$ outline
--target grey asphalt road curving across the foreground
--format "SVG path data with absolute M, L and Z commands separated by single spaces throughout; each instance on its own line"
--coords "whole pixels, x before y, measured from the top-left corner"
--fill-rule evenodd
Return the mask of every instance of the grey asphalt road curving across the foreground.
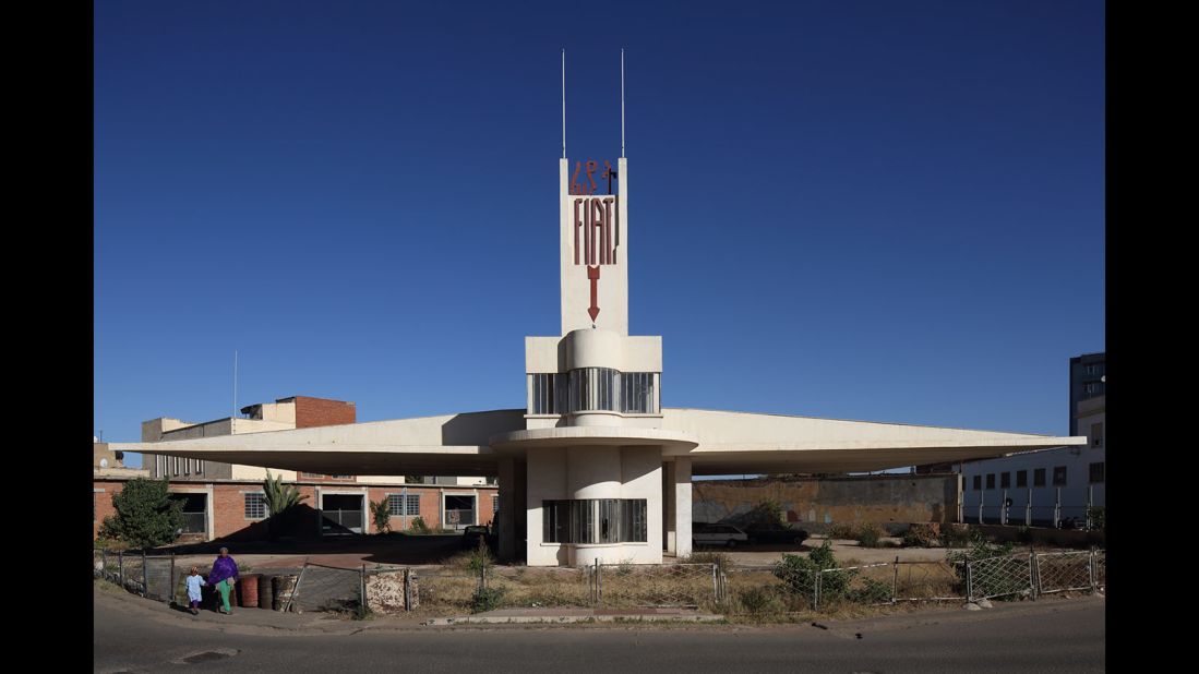
M 94 609 L 94 669 L 102 673 L 1104 670 L 1104 602 L 1091 598 L 1061 601 L 1050 610 L 1013 607 L 829 622 L 829 630 L 585 625 L 354 634 L 197 630 L 101 600 Z

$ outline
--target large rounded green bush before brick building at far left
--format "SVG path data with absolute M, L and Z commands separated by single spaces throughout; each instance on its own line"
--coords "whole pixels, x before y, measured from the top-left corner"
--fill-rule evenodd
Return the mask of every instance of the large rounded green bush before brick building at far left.
M 170 498 L 167 480 L 135 477 L 113 497 L 116 514 L 106 517 L 100 535 L 138 548 L 174 542 L 183 528 L 183 503 Z

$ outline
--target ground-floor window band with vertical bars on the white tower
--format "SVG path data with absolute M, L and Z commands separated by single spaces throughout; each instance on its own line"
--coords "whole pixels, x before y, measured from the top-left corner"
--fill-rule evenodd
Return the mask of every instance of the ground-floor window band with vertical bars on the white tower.
M 646 499 L 542 501 L 547 543 L 647 542 Z

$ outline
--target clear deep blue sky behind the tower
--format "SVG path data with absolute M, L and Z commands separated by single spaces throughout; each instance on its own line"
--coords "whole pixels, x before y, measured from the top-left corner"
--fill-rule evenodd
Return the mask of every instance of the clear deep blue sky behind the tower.
M 1105 348 L 1103 12 L 97 2 L 96 433 L 228 416 L 235 349 L 239 405 L 522 407 L 565 47 L 572 161 L 620 154 L 626 50 L 664 405 L 1065 434 Z

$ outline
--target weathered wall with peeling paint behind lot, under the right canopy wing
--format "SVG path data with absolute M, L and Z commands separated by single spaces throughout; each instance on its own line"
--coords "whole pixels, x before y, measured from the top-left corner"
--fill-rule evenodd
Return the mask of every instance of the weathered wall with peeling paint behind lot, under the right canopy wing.
M 957 475 L 873 475 L 863 477 L 765 477 L 697 480 L 692 485 L 695 522 L 743 524 L 763 501 L 776 501 L 789 523 L 857 524 L 873 522 L 954 522 Z

